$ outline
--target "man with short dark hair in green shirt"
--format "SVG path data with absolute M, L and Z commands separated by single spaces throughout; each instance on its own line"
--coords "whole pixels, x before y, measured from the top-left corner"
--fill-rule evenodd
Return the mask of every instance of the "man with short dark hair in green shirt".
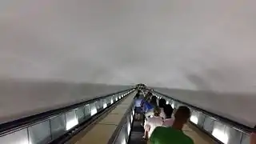
M 183 134 L 182 128 L 190 118 L 190 109 L 180 106 L 174 115 L 171 127 L 157 127 L 150 136 L 150 144 L 194 144 L 193 140 Z

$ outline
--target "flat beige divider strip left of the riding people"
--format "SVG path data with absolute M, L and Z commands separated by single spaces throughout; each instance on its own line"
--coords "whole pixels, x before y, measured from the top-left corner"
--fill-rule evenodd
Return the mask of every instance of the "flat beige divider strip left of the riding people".
M 118 124 L 122 121 L 126 111 L 130 108 L 133 100 L 134 93 L 131 93 L 126 99 L 118 103 L 113 110 L 104 115 L 104 118 L 98 118 L 98 121 L 95 121 L 91 126 L 82 130 L 81 133 L 69 143 L 108 143 L 114 131 L 117 130 Z

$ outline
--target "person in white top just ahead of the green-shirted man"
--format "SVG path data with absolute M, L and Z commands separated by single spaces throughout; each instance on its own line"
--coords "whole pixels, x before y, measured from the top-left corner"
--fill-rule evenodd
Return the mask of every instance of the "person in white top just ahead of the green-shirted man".
M 148 118 L 144 124 L 144 139 L 150 138 L 150 135 L 154 131 L 154 129 L 158 126 L 162 126 L 162 117 L 160 117 L 161 109 L 159 107 L 154 107 L 154 116 Z

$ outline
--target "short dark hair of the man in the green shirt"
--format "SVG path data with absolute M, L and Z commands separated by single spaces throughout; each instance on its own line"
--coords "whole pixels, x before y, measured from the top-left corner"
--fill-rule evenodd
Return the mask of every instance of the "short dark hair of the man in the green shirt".
M 174 116 L 175 120 L 185 123 L 190 118 L 190 115 L 190 108 L 187 106 L 179 106 Z

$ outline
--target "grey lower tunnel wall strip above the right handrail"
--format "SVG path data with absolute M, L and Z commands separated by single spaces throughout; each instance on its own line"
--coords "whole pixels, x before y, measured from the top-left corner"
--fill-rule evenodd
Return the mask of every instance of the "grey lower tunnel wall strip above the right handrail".
M 155 90 L 246 126 L 253 127 L 256 124 L 256 113 L 254 112 L 256 110 L 256 98 L 253 94 L 221 94 L 202 90 L 166 88 L 155 88 Z

